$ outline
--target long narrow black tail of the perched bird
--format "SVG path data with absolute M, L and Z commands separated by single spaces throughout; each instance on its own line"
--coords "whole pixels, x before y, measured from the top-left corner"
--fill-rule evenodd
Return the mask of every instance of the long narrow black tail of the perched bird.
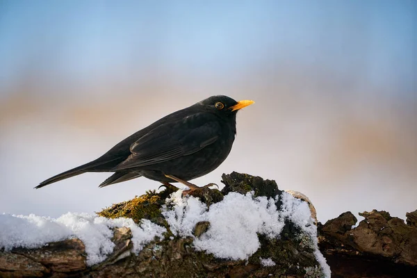
M 70 177 L 78 176 L 79 174 L 83 174 L 85 172 L 108 172 L 108 170 L 117 165 L 117 163 L 120 163 L 120 161 L 122 161 L 121 158 L 114 158 L 106 161 L 102 161 L 100 158 L 98 158 L 95 161 L 85 163 L 84 165 L 75 167 L 71 170 L 57 174 L 54 177 L 42 181 L 41 183 L 39 183 L 39 186 L 36 186 L 35 188 L 42 188 L 44 186 L 47 186 L 48 184 L 55 183 L 57 181 L 62 181 L 63 179 L 68 179 Z

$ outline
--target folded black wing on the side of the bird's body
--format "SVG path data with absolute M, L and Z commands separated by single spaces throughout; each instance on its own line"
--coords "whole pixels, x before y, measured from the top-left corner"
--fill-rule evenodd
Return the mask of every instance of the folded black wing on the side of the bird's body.
M 157 126 L 131 145 L 131 155 L 113 170 L 152 165 L 198 152 L 220 136 L 213 115 L 198 113 Z

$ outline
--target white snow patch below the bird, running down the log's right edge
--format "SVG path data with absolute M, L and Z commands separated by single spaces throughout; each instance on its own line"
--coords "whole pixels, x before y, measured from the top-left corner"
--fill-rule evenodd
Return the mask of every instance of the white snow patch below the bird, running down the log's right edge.
M 176 236 L 193 236 L 193 228 L 200 221 L 210 222 L 206 233 L 194 239 L 194 246 L 221 259 L 245 260 L 261 247 L 258 234 L 269 238 L 279 237 L 284 220 L 290 219 L 311 238 L 314 255 L 325 277 L 330 268 L 318 250 L 317 227 L 311 218 L 309 205 L 288 193 L 281 195 L 278 211 L 276 199 L 254 197 L 253 193 L 229 193 L 222 202 L 206 204 L 199 199 L 181 197 L 181 190 L 173 193 L 163 207 L 163 215 Z

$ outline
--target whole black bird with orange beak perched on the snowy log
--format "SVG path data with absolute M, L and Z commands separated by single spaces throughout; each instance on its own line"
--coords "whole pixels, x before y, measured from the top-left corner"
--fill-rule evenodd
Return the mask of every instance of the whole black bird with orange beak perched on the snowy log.
M 188 181 L 215 170 L 227 158 L 236 136 L 236 113 L 253 103 L 222 95 L 208 97 L 134 133 L 95 161 L 35 188 L 85 172 L 115 172 L 99 187 L 146 177 L 165 186 L 178 181 L 195 190 L 199 187 Z

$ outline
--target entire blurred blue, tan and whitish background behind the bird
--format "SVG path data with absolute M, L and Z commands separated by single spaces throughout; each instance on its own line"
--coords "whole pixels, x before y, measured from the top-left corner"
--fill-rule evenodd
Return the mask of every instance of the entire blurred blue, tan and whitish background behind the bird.
M 211 95 L 238 113 L 217 170 L 274 179 L 325 222 L 417 208 L 417 2 L 0 1 L 0 213 L 100 211 L 160 186 L 34 190 Z

